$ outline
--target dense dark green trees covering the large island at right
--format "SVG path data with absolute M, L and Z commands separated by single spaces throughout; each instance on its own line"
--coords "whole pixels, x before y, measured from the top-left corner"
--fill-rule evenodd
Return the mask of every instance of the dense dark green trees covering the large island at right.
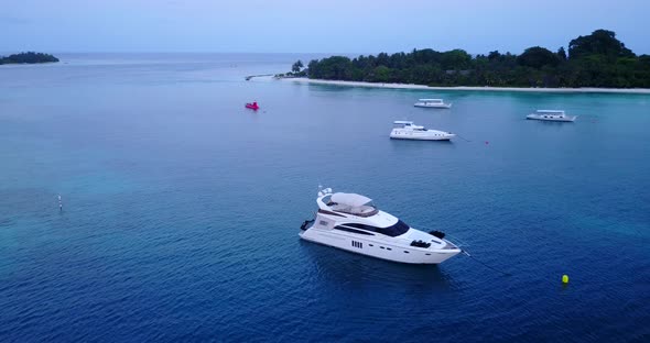
M 296 62 L 294 70 L 299 63 L 302 65 Z M 498 51 L 472 56 L 463 49 L 425 48 L 315 59 L 306 74 L 314 79 L 429 86 L 650 88 L 650 55 L 637 56 L 614 32 L 597 30 L 572 40 L 568 56 L 564 47 L 553 53 L 533 46 L 519 56 Z

